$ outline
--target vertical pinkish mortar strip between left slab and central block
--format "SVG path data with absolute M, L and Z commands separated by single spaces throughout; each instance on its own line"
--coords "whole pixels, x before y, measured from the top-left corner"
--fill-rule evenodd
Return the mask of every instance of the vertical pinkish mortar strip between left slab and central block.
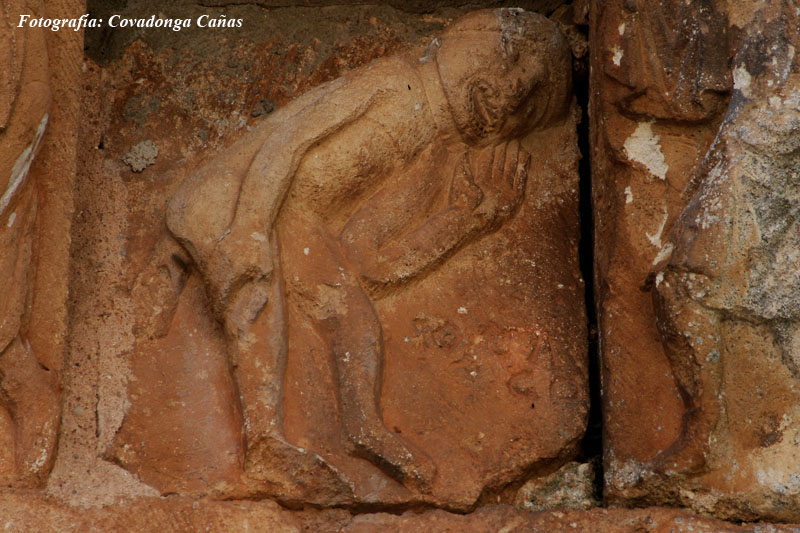
M 119 424 L 130 374 L 132 317 L 120 272 L 129 257 L 123 230 L 129 227 L 131 196 L 115 172 L 121 151 L 108 156 L 103 132 L 108 94 L 100 69 L 85 63 L 78 131 L 78 172 L 70 250 L 69 346 L 64 361 L 63 407 L 58 456 L 47 493 L 70 505 L 109 505 L 157 492 L 99 456 Z M 130 146 L 130 143 L 126 143 Z M 109 159 L 114 163 L 109 164 Z M 130 173 L 130 170 L 127 170 Z

